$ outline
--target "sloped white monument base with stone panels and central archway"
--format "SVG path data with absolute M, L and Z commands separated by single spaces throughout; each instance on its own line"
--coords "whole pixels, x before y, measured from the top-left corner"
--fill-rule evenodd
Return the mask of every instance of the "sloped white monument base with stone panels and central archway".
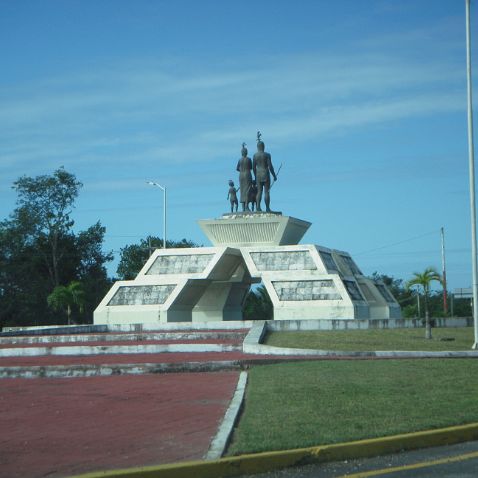
M 386 286 L 349 254 L 294 245 L 157 249 L 136 279 L 113 285 L 94 323 L 242 320 L 247 292 L 261 282 L 275 320 L 401 317 Z

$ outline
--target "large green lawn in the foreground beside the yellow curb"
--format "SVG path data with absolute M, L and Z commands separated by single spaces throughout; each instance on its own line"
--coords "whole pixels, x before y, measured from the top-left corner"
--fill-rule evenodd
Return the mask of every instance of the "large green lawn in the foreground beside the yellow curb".
M 256 366 L 228 454 L 478 422 L 478 360 L 336 360 Z

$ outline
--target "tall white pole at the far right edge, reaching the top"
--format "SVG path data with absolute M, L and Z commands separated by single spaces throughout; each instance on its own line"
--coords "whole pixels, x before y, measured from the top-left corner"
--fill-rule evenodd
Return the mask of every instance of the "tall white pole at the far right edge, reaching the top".
M 473 146 L 473 110 L 471 92 L 471 42 L 470 42 L 470 0 L 466 6 L 466 84 L 468 110 L 468 166 L 470 179 L 470 212 L 471 212 L 471 263 L 473 268 L 473 322 L 475 326 L 475 343 L 478 348 L 478 273 L 476 263 L 476 201 L 475 201 L 475 157 Z

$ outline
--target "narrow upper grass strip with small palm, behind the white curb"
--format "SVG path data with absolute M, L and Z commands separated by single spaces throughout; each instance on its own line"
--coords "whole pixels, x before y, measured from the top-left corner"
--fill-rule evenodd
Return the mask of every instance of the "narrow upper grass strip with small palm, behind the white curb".
M 425 329 L 322 330 L 305 332 L 270 332 L 265 343 L 276 347 L 321 350 L 470 350 L 473 327 L 432 329 L 432 339 L 425 339 Z M 454 339 L 454 340 L 442 340 Z

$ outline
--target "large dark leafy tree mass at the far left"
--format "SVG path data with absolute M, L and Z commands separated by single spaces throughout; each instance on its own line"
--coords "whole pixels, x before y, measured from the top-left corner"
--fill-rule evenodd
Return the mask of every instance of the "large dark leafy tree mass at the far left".
M 81 281 L 83 320 L 110 282 L 102 251 L 105 228 L 98 222 L 75 234 L 70 217 L 81 183 L 63 168 L 52 176 L 23 176 L 14 188 L 16 209 L 0 221 L 0 326 L 54 324 L 47 297 L 58 285 Z

